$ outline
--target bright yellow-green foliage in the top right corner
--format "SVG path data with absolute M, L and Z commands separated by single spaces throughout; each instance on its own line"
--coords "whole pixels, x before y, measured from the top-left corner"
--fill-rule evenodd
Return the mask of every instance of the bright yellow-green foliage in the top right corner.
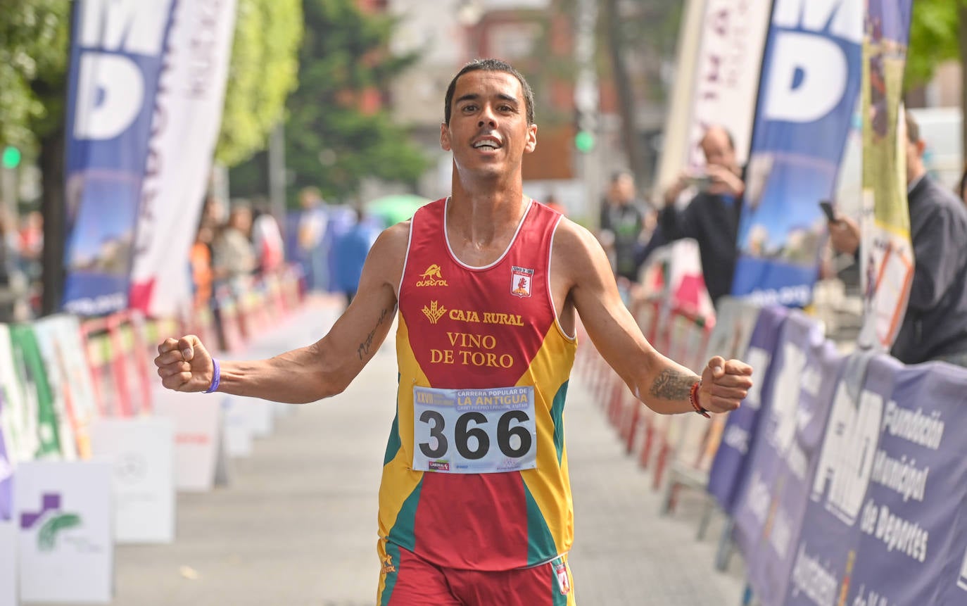
M 907 89 L 925 84 L 938 65 L 960 56 L 958 9 L 963 6 L 967 6 L 967 0 L 916 0 L 913 3 L 904 75 Z

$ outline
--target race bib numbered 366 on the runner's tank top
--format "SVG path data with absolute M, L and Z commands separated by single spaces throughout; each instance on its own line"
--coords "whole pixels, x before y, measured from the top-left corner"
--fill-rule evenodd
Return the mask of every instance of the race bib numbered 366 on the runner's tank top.
M 537 467 L 534 388 L 413 388 L 413 469 L 496 474 Z

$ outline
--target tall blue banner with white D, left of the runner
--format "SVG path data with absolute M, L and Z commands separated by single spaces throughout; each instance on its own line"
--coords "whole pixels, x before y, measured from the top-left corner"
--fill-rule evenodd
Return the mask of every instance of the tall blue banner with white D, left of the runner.
M 128 306 L 132 246 L 176 0 L 77 0 L 67 116 L 63 308 Z

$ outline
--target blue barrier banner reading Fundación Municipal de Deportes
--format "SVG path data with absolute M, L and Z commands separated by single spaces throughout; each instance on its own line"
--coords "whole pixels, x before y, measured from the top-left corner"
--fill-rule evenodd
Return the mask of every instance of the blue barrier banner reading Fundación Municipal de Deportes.
M 967 603 L 967 371 L 877 356 L 862 391 L 847 383 L 836 390 L 784 603 Z

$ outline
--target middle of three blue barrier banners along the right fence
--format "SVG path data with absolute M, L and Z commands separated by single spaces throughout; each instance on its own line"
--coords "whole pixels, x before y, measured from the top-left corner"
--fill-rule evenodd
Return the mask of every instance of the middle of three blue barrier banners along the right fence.
M 786 594 L 842 361 L 819 324 L 790 314 L 770 370 L 772 405 L 763 409 L 759 445 L 735 508 L 734 537 L 748 582 L 766 605 L 781 604 Z

